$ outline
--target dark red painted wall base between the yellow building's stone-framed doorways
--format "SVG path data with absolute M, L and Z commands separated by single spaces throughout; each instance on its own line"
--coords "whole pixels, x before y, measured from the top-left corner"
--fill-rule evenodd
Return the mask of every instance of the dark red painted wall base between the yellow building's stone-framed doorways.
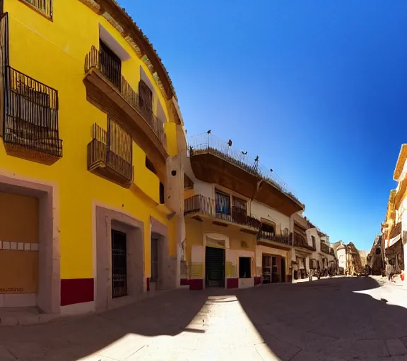
M 61 279 L 61 306 L 93 301 L 93 279 Z

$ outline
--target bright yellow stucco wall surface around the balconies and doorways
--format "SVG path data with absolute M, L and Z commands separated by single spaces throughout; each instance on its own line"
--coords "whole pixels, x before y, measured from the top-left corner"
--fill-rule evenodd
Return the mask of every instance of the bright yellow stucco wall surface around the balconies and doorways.
M 18 0 L 5 0 L 8 12 L 10 66 L 29 75 L 59 94 L 59 137 L 63 157 L 52 166 L 45 166 L 8 156 L 0 139 L 0 171 L 13 171 L 37 181 L 53 181 L 59 186 L 61 279 L 91 278 L 92 264 L 92 201 L 98 200 L 123 209 L 144 222 L 146 276 L 151 272 L 150 221 L 153 216 L 169 226 L 170 255 L 175 255 L 175 219 L 167 221 L 152 202 L 136 192 L 106 181 L 87 170 L 86 146 L 91 140 L 90 128 L 98 123 L 106 129 L 107 116 L 86 100 L 83 85 L 84 60 L 90 48 L 99 48 L 99 23 L 131 54 L 122 63 L 122 74 L 134 90 L 138 89 L 139 67 L 155 80 L 143 61 L 110 23 L 78 0 L 53 1 L 53 21 L 33 11 Z M 154 109 L 161 102 L 169 119 L 165 100 L 155 88 Z M 156 110 L 155 110 L 156 111 Z M 167 150 L 177 153 L 175 124 L 165 124 Z M 134 144 L 134 182 L 158 202 L 158 178 L 145 166 L 143 150 Z

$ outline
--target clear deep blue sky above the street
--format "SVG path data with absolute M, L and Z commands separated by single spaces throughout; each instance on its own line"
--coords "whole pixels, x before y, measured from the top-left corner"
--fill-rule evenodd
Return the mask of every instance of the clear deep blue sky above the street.
M 370 250 L 407 142 L 407 1 L 121 0 L 189 135 L 259 155 L 331 242 Z

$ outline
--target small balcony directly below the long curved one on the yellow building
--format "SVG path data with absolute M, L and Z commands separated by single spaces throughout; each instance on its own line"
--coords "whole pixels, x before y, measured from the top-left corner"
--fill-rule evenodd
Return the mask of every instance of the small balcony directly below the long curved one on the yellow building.
M 107 129 L 93 125 L 93 139 L 88 144 L 88 171 L 129 188 L 134 173 L 131 136 L 111 119 Z

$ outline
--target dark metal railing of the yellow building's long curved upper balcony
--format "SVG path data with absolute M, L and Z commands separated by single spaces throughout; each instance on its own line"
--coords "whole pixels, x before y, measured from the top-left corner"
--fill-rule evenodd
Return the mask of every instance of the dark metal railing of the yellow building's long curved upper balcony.
M 112 59 L 106 52 L 98 51 L 98 49 L 93 46 L 90 52 L 85 56 L 85 73 L 88 73 L 91 68 L 97 68 L 105 78 L 117 88 L 124 100 L 141 114 L 155 135 L 160 139 L 160 142 L 166 147 L 167 137 L 164 132 L 164 122 L 153 114 L 151 108 L 142 105 L 149 104 L 148 100 L 141 99 L 141 95 L 129 85 L 129 82 L 127 82 L 119 71 L 117 61 Z

